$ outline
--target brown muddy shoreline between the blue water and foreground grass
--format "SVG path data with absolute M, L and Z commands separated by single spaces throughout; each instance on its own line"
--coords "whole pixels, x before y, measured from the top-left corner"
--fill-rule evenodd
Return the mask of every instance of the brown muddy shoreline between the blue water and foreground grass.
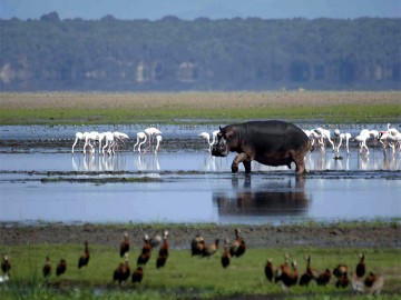
M 235 226 L 218 224 L 65 224 L 14 222 L 0 223 L 0 244 L 90 244 L 117 247 L 127 231 L 134 248 L 139 249 L 143 237 L 169 231 L 173 249 L 189 249 L 190 240 L 200 233 L 206 240 L 232 239 Z M 332 224 L 239 226 L 251 248 L 283 248 L 297 246 L 401 248 L 401 224 L 393 222 L 356 222 Z

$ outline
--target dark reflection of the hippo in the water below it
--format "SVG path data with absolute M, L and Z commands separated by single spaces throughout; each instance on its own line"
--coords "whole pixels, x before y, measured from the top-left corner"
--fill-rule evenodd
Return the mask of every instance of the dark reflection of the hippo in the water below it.
M 233 178 L 232 186 L 232 193 L 213 193 L 219 216 L 304 216 L 309 208 L 304 178 L 268 179 L 256 187 L 251 177 L 243 184 Z

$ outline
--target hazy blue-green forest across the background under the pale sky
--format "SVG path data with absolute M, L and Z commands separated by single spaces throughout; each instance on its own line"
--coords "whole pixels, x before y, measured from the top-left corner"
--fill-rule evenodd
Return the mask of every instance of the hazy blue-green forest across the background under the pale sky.
M 0 89 L 401 89 L 401 20 L 0 20 Z

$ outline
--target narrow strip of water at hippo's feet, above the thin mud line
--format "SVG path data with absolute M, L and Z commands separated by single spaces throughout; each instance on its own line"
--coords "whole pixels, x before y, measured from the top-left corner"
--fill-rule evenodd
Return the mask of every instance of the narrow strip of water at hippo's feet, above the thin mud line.
M 160 152 L 155 156 L 124 152 L 117 156 L 84 156 L 66 152 L 18 152 L 0 153 L 0 170 L 7 171 L 203 171 L 228 172 L 235 154 L 226 158 L 212 157 L 205 151 Z M 401 170 L 400 156 L 383 156 L 379 149 L 370 156 L 360 156 L 356 150 L 350 156 L 342 153 L 334 159 L 332 151 L 314 151 L 306 156 L 305 166 L 311 171 L 398 171 Z M 294 169 L 295 166 L 293 166 Z M 239 166 L 239 170 L 244 170 Z M 252 162 L 253 171 L 287 171 L 287 167 L 268 167 Z

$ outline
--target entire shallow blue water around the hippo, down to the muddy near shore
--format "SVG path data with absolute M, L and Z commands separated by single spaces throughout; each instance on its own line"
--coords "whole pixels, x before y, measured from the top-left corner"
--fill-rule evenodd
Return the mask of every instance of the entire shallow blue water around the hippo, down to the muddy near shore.
M 39 127 L 32 133 L 28 128 L 1 127 L 0 132 L 26 140 L 32 134 L 68 137 L 75 130 L 60 128 Z M 203 130 L 211 131 L 168 127 L 164 137 L 196 138 Z M 242 166 L 239 173 L 232 174 L 234 154 L 214 158 L 206 143 L 204 150 L 162 150 L 158 156 L 129 151 L 114 157 L 71 156 L 66 149 L 49 148 L 1 151 L 0 221 L 276 224 L 400 218 L 400 154 L 383 156 L 379 149 L 369 156 L 356 149 L 341 154 L 342 160 L 334 160 L 332 151 L 307 154 L 311 173 L 296 179 L 286 167 L 258 163 L 253 163 L 251 178 Z M 156 180 L 124 182 L 144 177 Z M 97 180 L 105 178 L 121 180 Z

